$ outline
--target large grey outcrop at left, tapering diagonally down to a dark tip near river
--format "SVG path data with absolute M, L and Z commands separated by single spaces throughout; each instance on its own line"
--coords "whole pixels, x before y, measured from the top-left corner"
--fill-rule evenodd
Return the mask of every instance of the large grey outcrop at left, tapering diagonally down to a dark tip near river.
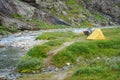
M 29 2 L 26 0 L 26 2 Z M 34 5 L 36 3 L 33 3 Z M 37 5 L 37 4 L 36 4 Z M 0 1 L 0 24 L 7 27 L 14 27 L 19 30 L 30 30 L 36 28 L 32 23 L 27 22 L 32 19 L 43 20 L 51 24 L 68 25 L 69 23 L 54 18 L 47 12 L 44 12 L 34 6 L 19 0 L 1 0 Z

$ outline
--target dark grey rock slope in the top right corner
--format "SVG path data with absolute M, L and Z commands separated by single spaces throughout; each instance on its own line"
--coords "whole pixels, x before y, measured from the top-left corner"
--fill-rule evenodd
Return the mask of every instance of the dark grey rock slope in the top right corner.
M 120 0 L 83 0 L 91 13 L 99 12 L 120 24 Z

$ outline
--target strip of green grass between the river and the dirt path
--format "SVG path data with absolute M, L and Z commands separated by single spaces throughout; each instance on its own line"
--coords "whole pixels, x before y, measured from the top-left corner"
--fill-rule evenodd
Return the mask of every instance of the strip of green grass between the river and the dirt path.
M 62 45 L 64 42 L 71 41 L 75 37 L 79 37 L 79 36 L 81 35 L 75 34 L 73 32 L 43 33 L 42 35 L 38 36 L 36 39 L 45 39 L 49 41 L 42 45 L 36 45 L 33 48 L 31 48 L 24 56 L 25 58 L 23 57 L 17 64 L 18 71 L 19 72 L 32 72 L 33 70 L 41 69 L 41 67 L 38 67 L 38 65 L 44 65 L 42 61 L 44 58 L 47 57 L 46 53 L 49 50 L 55 49 L 56 47 Z M 35 60 L 36 61 L 38 60 L 40 64 L 39 62 L 34 63 Z

